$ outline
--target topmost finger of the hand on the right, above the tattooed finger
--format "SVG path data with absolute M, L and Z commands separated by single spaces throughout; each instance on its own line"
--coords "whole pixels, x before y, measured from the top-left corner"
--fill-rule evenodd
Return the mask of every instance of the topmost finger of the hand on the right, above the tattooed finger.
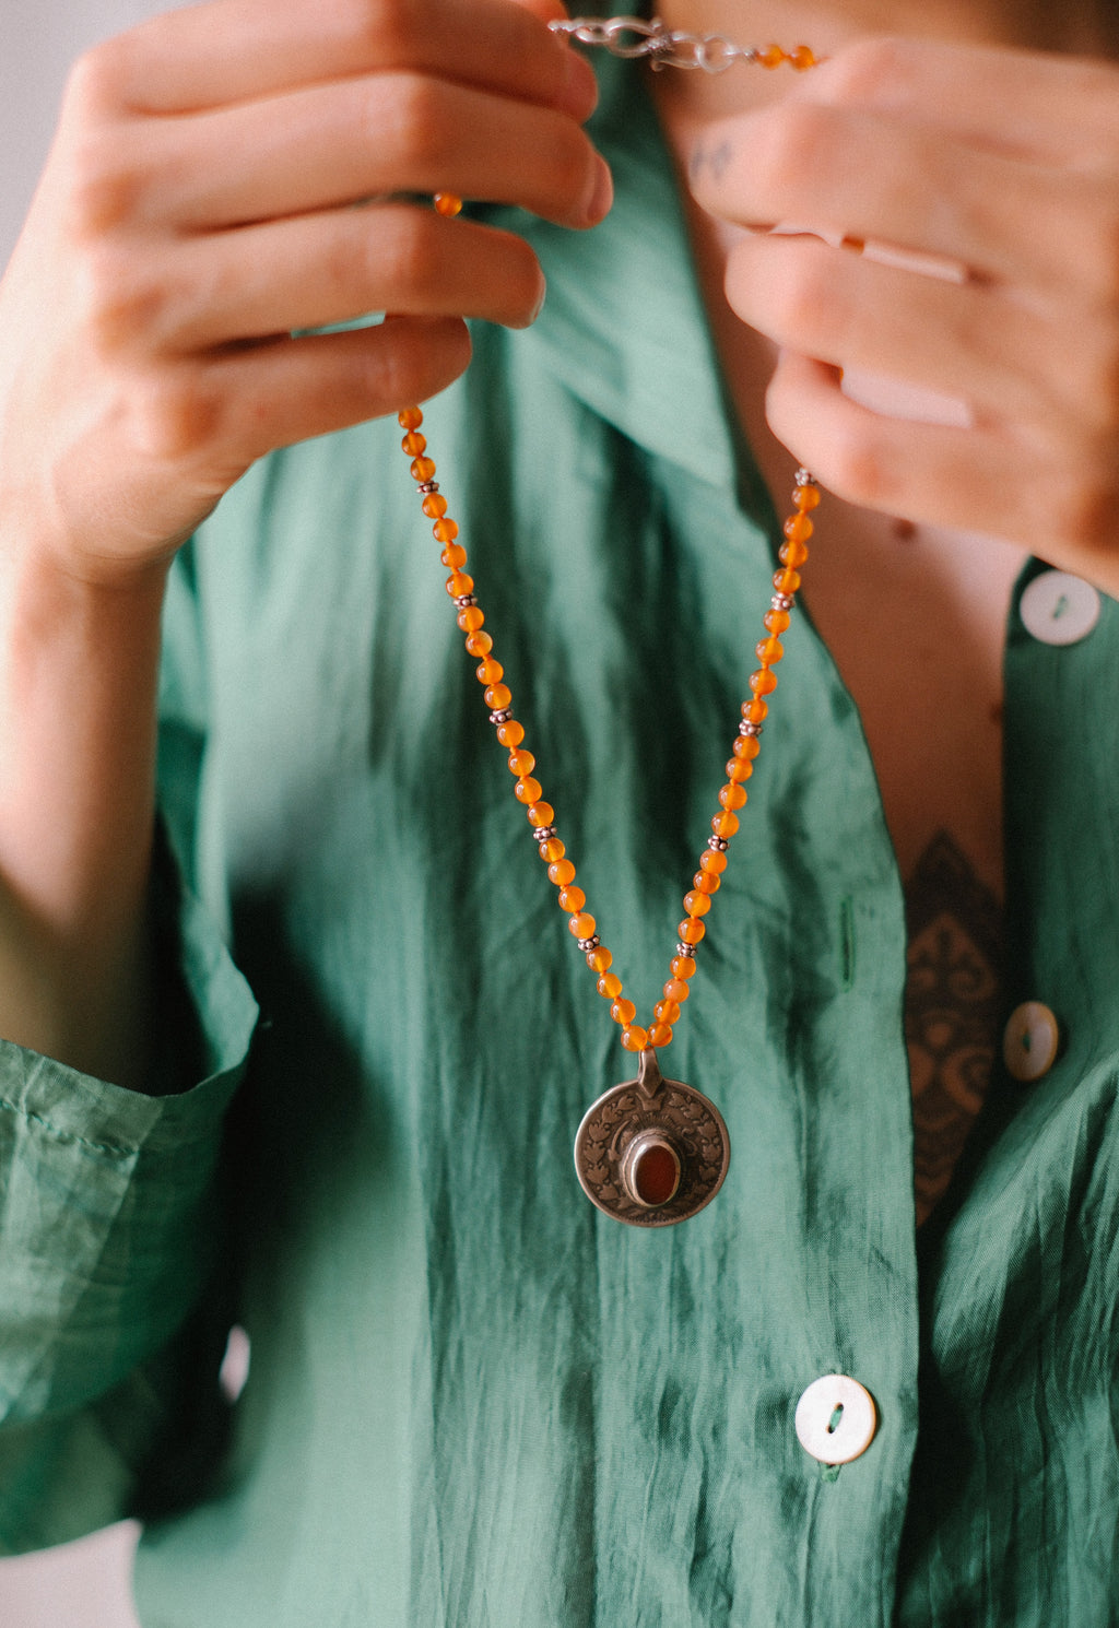
M 837 52 L 798 90 L 1041 163 L 1095 168 L 1114 151 L 1119 75 L 1082 57 L 876 37 Z

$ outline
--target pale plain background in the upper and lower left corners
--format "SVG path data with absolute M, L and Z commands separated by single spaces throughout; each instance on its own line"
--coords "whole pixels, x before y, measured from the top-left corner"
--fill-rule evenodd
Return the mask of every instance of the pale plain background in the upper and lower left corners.
M 0 265 L 50 145 L 67 67 L 163 0 L 0 0 Z M 127 1527 L 46 1556 L 0 1561 L 3 1628 L 135 1628 Z

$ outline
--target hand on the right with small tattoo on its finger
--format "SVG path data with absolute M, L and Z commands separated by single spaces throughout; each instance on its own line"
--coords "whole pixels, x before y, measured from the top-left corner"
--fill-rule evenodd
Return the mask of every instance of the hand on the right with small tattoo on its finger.
M 733 309 L 782 347 L 770 427 L 824 485 L 1119 594 L 1117 68 L 867 41 L 709 127 L 692 184 L 726 220 L 831 239 L 751 233 L 726 274 Z M 844 368 L 956 397 L 971 423 L 870 412 Z

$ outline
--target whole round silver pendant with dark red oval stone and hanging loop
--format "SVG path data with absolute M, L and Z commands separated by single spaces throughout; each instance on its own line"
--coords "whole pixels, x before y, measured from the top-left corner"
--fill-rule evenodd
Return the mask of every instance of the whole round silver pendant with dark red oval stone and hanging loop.
M 674 1226 L 723 1185 L 730 1136 L 702 1092 L 665 1079 L 642 1052 L 637 1079 L 591 1102 L 575 1136 L 575 1172 L 593 1205 L 629 1226 Z

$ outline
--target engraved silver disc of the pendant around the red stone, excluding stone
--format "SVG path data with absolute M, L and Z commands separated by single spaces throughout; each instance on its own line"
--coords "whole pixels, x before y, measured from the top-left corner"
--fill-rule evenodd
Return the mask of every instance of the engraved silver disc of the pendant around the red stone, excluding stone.
M 674 1197 L 647 1210 L 621 1180 L 622 1154 L 643 1130 L 660 1130 L 684 1166 Z M 624 1079 L 591 1102 L 575 1133 L 575 1174 L 590 1201 L 627 1226 L 676 1226 L 704 1210 L 726 1179 L 730 1135 L 713 1102 L 682 1079 L 665 1079 L 656 1053 L 642 1052 L 637 1079 Z

